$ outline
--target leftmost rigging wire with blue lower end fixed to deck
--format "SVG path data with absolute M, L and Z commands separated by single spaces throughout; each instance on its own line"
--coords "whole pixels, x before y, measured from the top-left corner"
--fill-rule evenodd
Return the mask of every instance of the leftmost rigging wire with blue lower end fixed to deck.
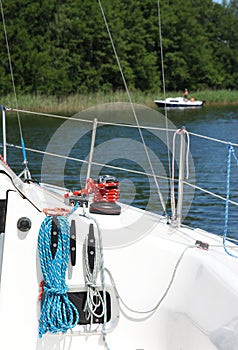
M 8 63 L 9 63 L 9 68 L 10 68 L 13 93 L 14 93 L 16 108 L 18 109 L 18 100 L 17 100 L 16 86 L 15 86 L 14 75 L 13 75 L 11 53 L 10 53 L 10 47 L 9 47 L 9 42 L 8 42 L 7 29 L 6 29 L 5 16 L 4 16 L 4 11 L 3 11 L 3 6 L 2 6 L 2 0 L 0 0 L 0 7 L 1 7 L 1 15 L 2 15 L 4 36 L 5 36 L 6 46 L 7 46 Z M 25 148 L 25 143 L 24 143 L 24 138 L 23 138 L 21 119 L 20 119 L 19 112 L 17 112 L 17 120 L 18 120 L 18 126 L 19 126 L 19 131 L 20 131 L 20 138 L 21 138 L 21 145 L 22 145 L 23 164 L 25 165 L 25 170 L 21 174 L 24 174 L 25 178 L 31 178 L 30 171 L 29 171 L 29 169 L 27 167 L 28 161 L 27 161 L 27 156 L 26 156 L 26 148 Z M 21 176 L 21 174 L 20 174 L 20 176 Z

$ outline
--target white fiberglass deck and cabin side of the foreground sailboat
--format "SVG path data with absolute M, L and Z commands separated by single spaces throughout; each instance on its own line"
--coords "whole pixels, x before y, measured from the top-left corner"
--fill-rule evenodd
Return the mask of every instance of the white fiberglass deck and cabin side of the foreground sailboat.
M 7 200 L 5 231 L 0 235 L 1 348 L 106 349 L 101 328 L 95 325 L 91 329 L 76 327 L 67 334 L 47 333 L 39 339 L 41 302 L 38 295 L 42 272 L 37 241 L 45 215 L 32 203 L 38 205 L 39 191 L 44 193 L 44 189 L 35 184 L 22 184 L 21 190 L 29 195 L 30 203 L 19 194 L 9 177 L 0 176 L 0 196 Z M 44 194 L 46 202 L 50 200 L 59 206 L 60 196 L 49 191 Z M 77 259 L 76 265 L 67 272 L 69 290 L 85 289 L 82 246 L 92 221 L 79 216 L 81 211 L 78 208 L 72 215 L 77 224 Z M 28 232 L 17 228 L 21 217 L 31 220 Z M 227 350 L 238 347 L 238 265 L 235 259 L 224 254 L 220 238 L 197 229 L 173 228 L 160 216 L 125 205 L 121 215 L 94 217 L 102 230 L 104 264 L 121 298 L 109 274 L 105 273 L 112 308 L 106 327 L 108 348 Z M 133 239 L 129 244 L 126 237 L 131 233 Z M 109 247 L 110 235 L 115 236 L 114 247 Z M 195 247 L 197 240 L 208 243 L 209 250 Z M 157 307 L 148 314 L 136 313 L 126 309 L 122 300 L 137 311 Z

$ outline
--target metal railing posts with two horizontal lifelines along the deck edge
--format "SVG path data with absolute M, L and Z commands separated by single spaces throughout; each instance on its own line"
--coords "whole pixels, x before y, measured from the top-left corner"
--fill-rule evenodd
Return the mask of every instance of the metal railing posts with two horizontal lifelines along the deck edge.
M 8 109 L 7 109 L 7 111 L 8 111 Z M 177 177 L 176 176 L 172 177 L 171 174 L 164 176 L 161 174 L 153 174 L 153 172 L 146 172 L 146 171 L 135 170 L 135 169 L 130 169 L 130 168 L 126 168 L 126 167 L 114 166 L 111 164 L 102 164 L 100 162 L 96 162 L 93 160 L 93 148 L 94 148 L 94 142 L 95 142 L 95 136 L 96 136 L 96 129 L 98 126 L 117 126 L 117 127 L 123 127 L 123 128 L 136 128 L 136 129 L 140 128 L 141 130 L 146 129 L 146 130 L 167 132 L 167 133 L 170 133 L 171 135 L 176 133 L 177 130 L 175 128 L 161 128 L 161 127 L 155 127 L 155 126 L 151 126 L 151 125 L 138 126 L 138 125 L 126 124 L 126 123 L 113 123 L 113 122 L 97 120 L 95 118 L 94 118 L 94 120 L 87 120 L 87 119 L 66 117 L 66 116 L 55 115 L 55 114 L 38 113 L 38 112 L 26 111 L 26 110 L 20 110 L 20 109 L 11 109 L 11 111 L 24 113 L 24 114 L 40 115 L 43 117 L 73 120 L 73 121 L 77 121 L 77 122 L 81 122 L 81 123 L 91 123 L 92 124 L 91 129 L 93 130 L 93 132 L 92 132 L 92 141 L 91 141 L 91 148 L 90 148 L 88 160 L 87 159 L 80 159 L 78 157 L 76 158 L 76 157 L 72 157 L 72 156 L 65 156 L 65 155 L 56 154 L 56 153 L 47 152 L 47 151 L 29 148 L 29 147 L 26 147 L 26 150 L 29 152 L 34 152 L 34 153 L 38 153 L 38 154 L 42 154 L 42 155 L 48 155 L 51 157 L 58 157 L 58 158 L 62 158 L 65 160 L 70 160 L 70 161 L 88 164 L 88 171 L 87 171 L 88 177 L 90 176 L 91 166 L 94 165 L 94 166 L 106 167 L 108 169 L 116 169 L 116 170 L 120 170 L 120 171 L 127 172 L 127 173 L 132 173 L 132 174 L 147 176 L 147 177 L 151 177 L 151 178 L 161 179 L 161 180 L 168 181 L 170 184 L 175 183 L 175 186 L 177 189 L 177 196 L 178 196 L 178 198 L 177 198 L 177 211 L 176 211 L 176 220 L 177 220 L 178 226 L 180 226 L 181 221 L 182 221 L 183 187 L 184 186 L 193 188 L 194 190 L 200 191 L 202 193 L 206 193 L 206 194 L 213 196 L 213 197 L 215 197 L 223 202 L 232 204 L 234 206 L 238 206 L 237 201 L 232 200 L 230 198 L 227 198 L 227 196 L 222 196 L 222 195 L 215 193 L 214 191 L 211 191 L 209 189 L 198 186 L 195 183 L 189 181 L 189 179 L 184 178 L 184 167 L 185 167 L 185 162 L 186 162 L 184 153 L 185 153 L 185 148 L 188 147 L 188 145 L 187 145 L 188 141 L 186 142 L 183 132 L 180 133 L 180 137 L 181 137 L 180 146 L 179 146 L 179 148 L 180 148 L 180 158 L 179 159 L 180 160 L 179 160 L 179 164 L 178 164 L 178 176 Z M 5 118 L 5 113 L 4 113 L 4 118 Z M 3 148 L 3 155 L 6 156 L 6 153 L 7 153 L 6 148 L 7 147 L 22 149 L 22 146 L 7 143 L 6 130 L 5 130 L 6 122 L 5 121 L 3 121 L 3 128 L 4 128 L 4 130 L 3 130 L 3 144 L 1 145 Z M 230 143 L 230 142 L 227 142 L 225 140 L 220 140 L 217 138 L 213 138 L 213 137 L 209 137 L 209 136 L 201 135 L 201 134 L 196 134 L 196 133 L 188 132 L 188 131 L 186 131 L 186 133 L 190 136 L 190 139 L 193 137 L 196 137 L 196 138 L 200 138 L 200 139 L 206 139 L 209 142 L 216 142 L 216 143 L 224 144 L 227 147 L 229 145 L 231 145 L 232 147 L 238 147 L 237 143 Z

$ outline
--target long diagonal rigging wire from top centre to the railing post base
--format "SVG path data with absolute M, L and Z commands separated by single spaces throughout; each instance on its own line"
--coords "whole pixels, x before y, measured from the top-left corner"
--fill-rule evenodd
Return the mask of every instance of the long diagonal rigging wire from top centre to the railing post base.
M 102 16 L 103 16 L 103 20 L 104 20 L 104 23 L 105 23 L 105 26 L 106 26 L 106 29 L 107 29 L 109 38 L 110 38 L 110 42 L 111 42 L 112 49 L 113 49 L 113 52 L 114 52 L 114 55 L 115 55 L 115 58 L 116 58 L 116 61 L 117 61 L 117 65 L 118 65 L 118 68 L 119 68 L 120 73 L 121 73 L 121 77 L 122 77 L 123 84 L 124 84 L 125 89 L 126 89 L 126 93 L 127 93 L 128 99 L 129 99 L 129 103 L 130 103 L 130 105 L 131 105 L 132 113 L 133 113 L 133 116 L 134 116 L 134 118 L 135 118 L 136 125 L 137 125 L 137 127 L 138 127 L 138 132 L 139 132 L 140 137 L 141 137 L 141 141 L 142 141 L 142 144 L 143 144 L 143 147 L 144 147 L 144 150 L 145 150 L 145 154 L 146 154 L 146 157 L 147 157 L 147 159 L 148 159 L 151 172 L 152 172 L 152 174 L 153 174 L 153 179 L 154 179 L 154 182 L 155 182 L 157 191 L 158 191 L 158 195 L 159 195 L 159 198 L 160 198 L 160 202 L 161 202 L 161 204 L 162 204 L 162 208 L 163 208 L 164 213 L 167 215 L 166 205 L 165 205 L 165 202 L 164 202 L 162 193 L 161 193 L 161 191 L 160 191 L 159 183 L 158 183 L 157 178 L 156 178 L 156 175 L 155 175 L 155 171 L 154 171 L 154 168 L 153 168 L 151 159 L 150 159 L 150 155 L 149 155 L 149 152 L 148 152 L 146 143 L 145 143 L 144 136 L 143 136 L 142 131 L 141 131 L 141 129 L 140 129 L 140 124 L 139 124 L 139 121 L 138 121 L 138 118 L 137 118 L 137 115 L 136 115 L 136 111 L 135 111 L 135 108 L 134 108 L 134 105 L 133 105 L 133 102 L 132 102 L 132 99 L 131 99 L 131 95 L 130 95 L 130 92 L 129 92 L 129 89 L 128 89 L 128 86 L 127 86 L 127 82 L 126 82 L 126 79 L 125 79 L 125 76 L 124 76 L 124 73 L 123 73 L 123 70 L 122 70 L 122 67 L 121 67 L 121 63 L 120 63 L 119 57 L 118 57 L 118 55 L 117 55 L 116 47 L 115 47 L 115 45 L 114 45 L 113 38 L 112 38 L 110 29 L 109 29 L 109 26 L 108 26 L 107 18 L 106 18 L 106 15 L 105 15 L 105 13 L 104 13 L 104 10 L 103 10 L 103 7 L 102 7 L 102 4 L 101 4 L 101 1 L 100 1 L 100 0 L 98 0 L 98 4 L 99 4 L 99 7 L 100 7 Z

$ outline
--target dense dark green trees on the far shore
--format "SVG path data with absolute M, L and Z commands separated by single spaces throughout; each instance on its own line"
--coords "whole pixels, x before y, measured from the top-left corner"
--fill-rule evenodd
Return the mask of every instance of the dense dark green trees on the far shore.
M 3 0 L 18 93 L 86 94 L 124 89 L 97 0 Z M 235 89 L 237 0 L 101 0 L 129 89 Z M 0 93 L 12 92 L 4 27 Z

